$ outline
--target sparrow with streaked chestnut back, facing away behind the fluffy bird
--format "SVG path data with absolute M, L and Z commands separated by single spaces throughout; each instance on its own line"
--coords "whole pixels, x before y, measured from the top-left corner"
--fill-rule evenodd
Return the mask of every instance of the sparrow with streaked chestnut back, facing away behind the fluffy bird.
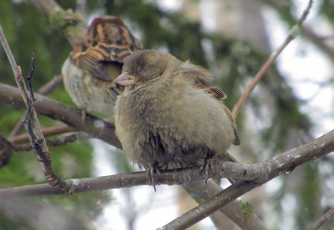
M 65 88 L 74 103 L 87 111 L 111 115 L 124 86 L 114 83 L 127 57 L 141 42 L 117 17 L 95 18 L 85 37 L 74 47 L 62 67 Z

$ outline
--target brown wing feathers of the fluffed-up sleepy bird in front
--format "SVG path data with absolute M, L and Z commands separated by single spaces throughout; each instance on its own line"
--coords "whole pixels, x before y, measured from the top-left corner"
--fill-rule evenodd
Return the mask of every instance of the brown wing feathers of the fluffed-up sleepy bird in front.
M 222 101 L 226 98 L 226 94 L 221 91 L 220 89 L 214 87 L 209 80 L 212 79 L 212 75 L 207 70 L 198 67 L 196 65 L 192 65 L 189 61 L 186 61 L 181 66 L 179 66 L 175 70 L 175 74 L 183 73 L 185 74 L 185 77 L 191 78 L 195 81 L 195 84 L 200 89 L 205 89 L 207 93 L 212 94 L 213 98 Z M 232 113 L 229 111 L 229 109 L 226 107 L 227 115 L 229 116 L 229 119 L 231 120 L 233 130 L 234 130 L 234 136 L 235 139 L 233 140 L 234 145 L 240 145 L 240 139 L 238 136 L 238 132 L 236 129 L 236 124 L 233 118 Z

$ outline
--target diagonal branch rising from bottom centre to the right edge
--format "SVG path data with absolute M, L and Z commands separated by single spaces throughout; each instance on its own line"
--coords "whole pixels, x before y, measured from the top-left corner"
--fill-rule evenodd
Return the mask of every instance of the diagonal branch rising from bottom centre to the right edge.
M 318 159 L 332 151 L 334 151 L 334 130 L 314 141 L 264 161 L 263 163 L 268 165 L 269 171 L 268 177 L 261 183 L 259 182 L 260 180 L 258 180 L 259 184 L 238 181 L 206 202 L 163 226 L 162 229 L 186 229 L 252 189 L 265 184 L 282 173 L 292 172 L 297 166 Z

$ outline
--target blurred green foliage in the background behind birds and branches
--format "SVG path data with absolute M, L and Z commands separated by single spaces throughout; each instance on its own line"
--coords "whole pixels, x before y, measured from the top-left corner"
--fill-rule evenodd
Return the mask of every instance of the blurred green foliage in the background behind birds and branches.
M 61 0 L 57 3 L 64 10 L 75 7 L 73 0 Z M 329 5 L 331 7 L 327 7 Z M 329 20 L 333 20 L 333 8 L 332 1 L 325 0 L 320 10 Z M 294 9 L 291 1 L 281 1 L 276 9 L 290 25 L 295 23 L 295 19 L 291 16 L 291 11 Z M 101 12 L 119 16 L 125 20 L 130 28 L 141 34 L 145 48 L 166 49 L 182 61 L 190 59 L 192 63 L 212 70 L 215 73 L 215 84 L 228 96 L 224 102 L 230 109 L 240 96 L 240 85 L 248 83 L 269 56 L 268 53 L 258 50 L 246 41 L 226 38 L 221 34 L 208 34 L 201 29 L 199 21 L 190 21 L 180 12 L 163 11 L 153 1 L 87 2 L 87 15 Z M 62 63 L 72 47 L 60 32 L 51 28 L 48 20 L 32 3 L 29 1 L 13 3 L 9 0 L 3 0 L 0 7 L 0 24 L 16 62 L 22 68 L 23 76 L 27 76 L 30 70 L 33 49 L 37 50 L 36 70 L 33 78 L 35 91 L 49 82 L 53 76 L 60 74 Z M 212 46 L 214 52 L 210 59 L 205 54 L 203 42 L 208 42 Z M 0 63 L 0 82 L 15 86 L 13 72 L 2 48 L 0 48 Z M 292 131 L 304 135 L 305 137 L 301 138 L 303 140 L 310 139 L 309 132 L 312 123 L 299 110 L 302 102 L 296 98 L 287 86 L 286 80 L 275 67 L 266 74 L 259 87 L 261 90 L 267 91 L 272 96 L 273 101 L 271 107 L 268 107 L 272 113 L 270 123 L 260 133 L 261 143 L 259 145 L 264 147 L 262 151 L 266 150 L 273 156 L 286 150 L 287 147 L 290 147 L 287 145 L 287 139 Z M 74 106 L 64 87 L 58 88 L 50 97 Z M 251 106 L 252 111 L 260 120 L 263 118 L 262 100 L 257 94 L 252 94 L 248 100 L 248 105 Z M 0 133 L 8 137 L 25 111 L 4 103 L 0 103 L 0 109 Z M 243 133 L 245 126 L 243 113 L 241 111 L 237 117 L 239 133 Z M 59 124 L 43 116 L 39 116 L 39 119 L 43 127 Z M 248 135 L 244 135 L 244 139 L 241 138 L 241 142 L 245 145 L 249 141 L 247 140 Z M 256 158 L 256 151 L 250 147 L 243 148 L 247 154 Z M 92 147 L 88 142 L 72 143 L 49 149 L 52 166 L 62 179 L 94 176 Z M 120 152 L 113 154 L 115 154 L 115 159 L 120 162 L 117 166 L 120 172 L 133 170 L 127 158 L 124 158 L 124 154 Z M 319 212 L 325 212 L 319 207 L 320 191 L 316 165 L 317 163 L 312 163 L 307 167 L 303 166 L 301 185 L 296 191 L 300 202 L 300 216 L 297 217 L 298 226 L 296 229 L 305 229 L 311 221 L 319 218 Z M 312 178 L 309 175 L 312 175 Z M 0 187 L 3 188 L 44 182 L 42 170 L 32 151 L 15 152 L 11 162 L 0 168 Z M 279 200 L 286 192 L 284 188 L 279 191 L 276 197 L 273 197 L 273 200 L 277 199 L 275 200 L 277 210 L 280 209 Z M 41 202 L 42 199 L 33 198 L 30 201 Z M 68 215 L 84 222 L 94 220 L 101 213 L 104 205 L 110 202 L 110 195 L 106 192 L 96 192 L 73 196 L 53 196 L 48 197 L 47 200 L 54 206 L 73 211 L 67 212 Z M 301 211 L 302 209 L 309 211 L 305 214 Z M 0 209 L 1 229 L 36 228 L 30 226 L 28 222 L 18 222 L 9 218 L 5 210 Z M 330 229 L 330 227 L 326 225 L 325 229 Z

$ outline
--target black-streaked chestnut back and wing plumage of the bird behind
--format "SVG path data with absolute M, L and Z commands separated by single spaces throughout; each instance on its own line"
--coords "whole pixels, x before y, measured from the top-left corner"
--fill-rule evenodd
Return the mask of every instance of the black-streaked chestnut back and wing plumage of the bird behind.
M 108 74 L 106 64 L 123 64 L 127 57 L 138 49 L 143 49 L 143 45 L 121 19 L 96 18 L 87 29 L 87 35 L 74 47 L 71 61 L 94 77 L 113 81 L 115 79 Z

